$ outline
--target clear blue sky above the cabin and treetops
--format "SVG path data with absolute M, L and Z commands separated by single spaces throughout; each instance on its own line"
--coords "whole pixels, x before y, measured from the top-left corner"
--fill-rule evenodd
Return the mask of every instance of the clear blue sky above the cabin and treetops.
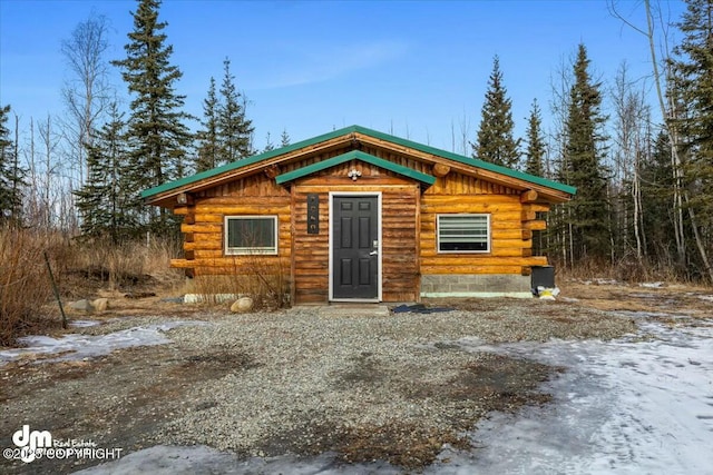
M 21 121 L 60 116 L 68 75 L 61 40 L 94 9 L 110 21 L 107 59 L 121 59 L 136 6 L 1 0 L 0 105 L 10 103 Z M 685 10 L 682 1 L 661 6 L 672 20 Z M 617 7 L 645 24 L 643 1 Z M 267 132 L 277 141 L 284 129 L 296 141 L 356 123 L 462 152 L 461 129 L 475 138 L 495 55 L 518 135 L 533 99 L 547 115 L 553 77 L 579 42 L 606 87 L 624 60 L 632 78 L 651 71 L 646 39 L 614 18 L 605 0 L 165 0 L 159 19 L 168 22 L 173 63 L 184 73 L 176 88 L 187 96 L 187 111 L 202 115 L 208 80 L 219 83 L 228 57 L 251 100 L 257 147 Z M 118 71 L 113 81 L 128 102 Z

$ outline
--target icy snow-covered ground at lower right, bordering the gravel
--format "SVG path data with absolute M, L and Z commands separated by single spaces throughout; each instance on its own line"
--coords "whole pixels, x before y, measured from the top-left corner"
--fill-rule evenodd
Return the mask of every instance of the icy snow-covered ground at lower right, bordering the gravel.
M 713 474 L 713 320 L 629 313 L 639 333 L 616 342 L 485 345 L 563 366 L 545 386 L 553 404 L 495 414 L 472 433 L 475 448 L 445 448 L 426 474 Z M 660 318 L 658 318 L 660 317 Z M 204 446 L 156 446 L 81 474 L 400 473 L 384 463 L 340 466 L 314 458 L 253 458 Z

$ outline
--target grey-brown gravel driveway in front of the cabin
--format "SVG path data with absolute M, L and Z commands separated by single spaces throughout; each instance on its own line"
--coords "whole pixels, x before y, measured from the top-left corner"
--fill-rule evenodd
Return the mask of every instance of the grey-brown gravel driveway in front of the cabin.
M 635 330 L 628 318 L 572 303 L 508 299 L 427 315 L 302 307 L 204 317 L 208 325 L 168 330 L 167 345 L 0 367 L 1 445 L 12 446 L 10 434 L 29 424 L 124 454 L 204 444 L 241 457 L 334 452 L 345 463 L 382 459 L 412 469 L 432 463 L 443 444 L 468 448 L 463 432 L 489 412 L 547 404 L 540 384 L 560 370 L 452 342 L 609 339 Z M 82 331 L 167 319 L 123 318 Z M 86 466 L 2 461 L 0 472 Z

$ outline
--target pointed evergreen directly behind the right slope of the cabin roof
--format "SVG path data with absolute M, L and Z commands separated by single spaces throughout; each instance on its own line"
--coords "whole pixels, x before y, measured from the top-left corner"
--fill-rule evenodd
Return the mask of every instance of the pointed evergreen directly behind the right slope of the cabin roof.
M 477 144 L 471 144 L 473 157 L 505 167 L 516 167 L 519 160 L 519 140 L 512 137 L 514 130 L 512 103 L 507 97 L 500 60 L 496 56 L 482 105 L 478 140 Z

